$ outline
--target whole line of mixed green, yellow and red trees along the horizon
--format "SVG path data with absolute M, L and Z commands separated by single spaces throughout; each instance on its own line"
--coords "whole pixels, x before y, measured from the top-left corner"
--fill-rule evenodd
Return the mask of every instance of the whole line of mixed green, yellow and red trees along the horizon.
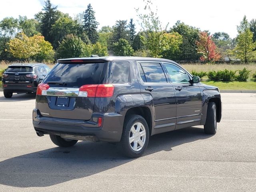
M 136 9 L 141 28 L 136 32 L 133 18 L 98 29 L 91 4 L 72 18 L 46 0 L 33 19 L 19 16 L 0 21 L 0 60 L 53 62 L 92 54 L 206 62 L 256 60 L 256 19 L 248 22 L 244 16 L 236 38 L 225 32 L 210 34 L 179 20 L 162 28 L 157 12 L 151 9 L 153 4 L 145 2 L 144 10 Z

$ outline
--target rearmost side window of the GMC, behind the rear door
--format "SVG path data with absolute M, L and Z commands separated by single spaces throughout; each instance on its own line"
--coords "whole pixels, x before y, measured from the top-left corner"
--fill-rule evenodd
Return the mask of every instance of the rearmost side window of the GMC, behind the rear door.
M 127 61 L 112 63 L 109 83 L 128 83 L 130 65 Z

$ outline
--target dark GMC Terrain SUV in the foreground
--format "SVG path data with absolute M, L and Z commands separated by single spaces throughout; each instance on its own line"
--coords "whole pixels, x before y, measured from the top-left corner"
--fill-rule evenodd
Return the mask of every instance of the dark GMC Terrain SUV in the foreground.
M 38 136 L 50 134 L 61 147 L 119 142 L 129 157 L 140 156 L 154 134 L 197 125 L 215 134 L 222 114 L 217 87 L 158 58 L 61 59 L 36 94 Z

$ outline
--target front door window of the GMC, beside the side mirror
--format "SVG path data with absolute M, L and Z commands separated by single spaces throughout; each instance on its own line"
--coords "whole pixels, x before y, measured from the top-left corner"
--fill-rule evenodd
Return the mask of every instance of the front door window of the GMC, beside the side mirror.
M 170 78 L 173 83 L 187 83 L 189 84 L 190 78 L 184 70 L 181 68 L 178 68 L 177 66 L 169 63 L 164 63 L 164 66 L 166 67 Z

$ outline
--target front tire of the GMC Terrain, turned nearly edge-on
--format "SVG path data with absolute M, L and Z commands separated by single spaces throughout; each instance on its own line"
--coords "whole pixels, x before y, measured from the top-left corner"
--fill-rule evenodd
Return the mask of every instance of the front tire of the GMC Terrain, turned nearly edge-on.
M 217 120 L 216 120 L 216 104 L 214 102 L 208 103 L 206 122 L 204 125 L 204 132 L 206 134 L 216 134 Z

